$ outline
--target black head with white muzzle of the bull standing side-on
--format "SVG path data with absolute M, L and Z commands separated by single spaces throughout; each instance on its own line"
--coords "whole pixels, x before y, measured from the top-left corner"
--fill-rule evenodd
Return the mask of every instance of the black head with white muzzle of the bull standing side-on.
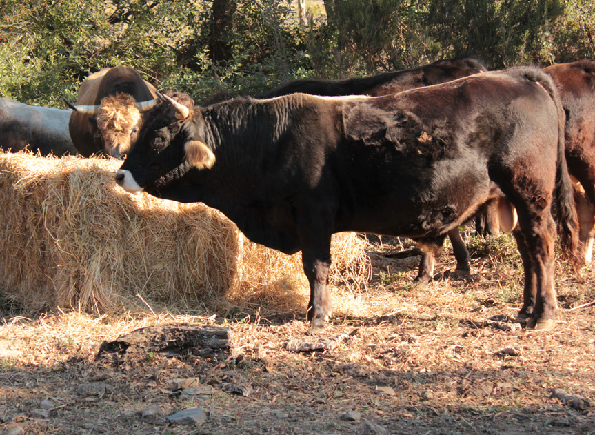
M 139 139 L 116 174 L 116 182 L 131 193 L 155 194 L 196 168 L 215 163 L 205 143 L 205 123 L 188 95 L 161 95 L 163 103 L 143 123 Z

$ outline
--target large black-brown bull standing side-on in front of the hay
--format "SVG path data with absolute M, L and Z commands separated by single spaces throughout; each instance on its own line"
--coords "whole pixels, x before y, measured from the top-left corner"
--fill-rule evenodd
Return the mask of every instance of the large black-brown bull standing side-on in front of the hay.
M 498 196 L 518 212 L 521 314 L 529 325 L 553 327 L 554 196 L 563 252 L 575 264 L 580 259 L 564 114 L 540 70 L 486 72 L 386 97 L 292 94 L 187 105 L 190 111 L 162 103 L 149 114 L 117 183 L 201 201 L 252 241 L 287 254 L 301 250 L 312 327 L 331 312 L 332 233 L 441 245 Z

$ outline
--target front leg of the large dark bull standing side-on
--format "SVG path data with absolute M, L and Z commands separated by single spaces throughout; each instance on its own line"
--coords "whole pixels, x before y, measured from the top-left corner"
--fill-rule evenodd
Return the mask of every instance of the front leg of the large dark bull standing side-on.
M 312 331 L 324 329 L 324 321 L 331 315 L 328 271 L 330 250 L 326 253 L 302 250 L 303 270 L 310 283 L 310 301 L 307 304 L 307 319 L 312 322 Z

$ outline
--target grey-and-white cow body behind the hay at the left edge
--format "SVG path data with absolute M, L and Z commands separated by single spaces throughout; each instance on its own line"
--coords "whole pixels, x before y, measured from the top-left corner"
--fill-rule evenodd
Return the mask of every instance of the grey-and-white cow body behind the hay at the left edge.
M 77 154 L 68 133 L 70 113 L 0 98 L 0 149 L 26 149 L 42 156 Z

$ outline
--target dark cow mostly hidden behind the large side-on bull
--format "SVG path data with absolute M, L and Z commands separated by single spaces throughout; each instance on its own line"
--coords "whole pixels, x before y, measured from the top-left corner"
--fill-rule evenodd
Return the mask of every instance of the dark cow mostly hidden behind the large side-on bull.
M 347 95 L 379 97 L 423 86 L 437 85 L 485 71 L 487 71 L 487 67 L 476 59 L 443 59 L 410 70 L 385 72 L 370 77 L 356 77 L 340 81 L 295 80 L 265 92 L 265 94 L 261 95 L 261 98 L 281 97 L 294 93 L 328 97 Z M 470 271 L 469 251 L 458 232 L 458 228 L 450 230 L 448 236 L 452 242 L 453 253 L 456 258 L 456 270 L 468 273 Z M 435 258 L 436 252 L 434 250 L 422 250 L 416 281 L 427 283 L 432 278 Z

